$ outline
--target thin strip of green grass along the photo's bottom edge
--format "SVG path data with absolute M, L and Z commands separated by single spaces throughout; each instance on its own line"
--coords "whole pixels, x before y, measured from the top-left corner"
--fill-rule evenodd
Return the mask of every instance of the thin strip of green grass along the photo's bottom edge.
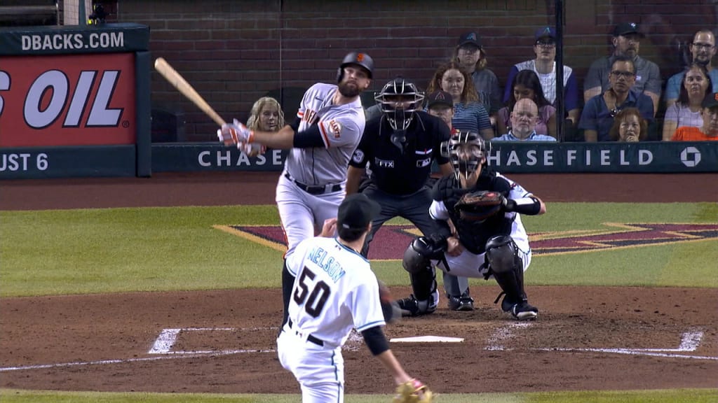
M 0 389 L 3 403 L 296 403 L 291 394 L 158 394 L 50 392 Z M 346 403 L 386 403 L 377 394 L 348 394 Z M 514 394 L 439 394 L 436 403 L 714 403 L 718 389 L 673 389 L 620 392 L 541 392 Z

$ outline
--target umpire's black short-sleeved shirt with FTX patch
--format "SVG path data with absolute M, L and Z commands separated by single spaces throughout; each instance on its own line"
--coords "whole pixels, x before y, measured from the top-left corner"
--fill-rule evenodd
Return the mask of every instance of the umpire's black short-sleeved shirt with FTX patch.
M 442 157 L 441 143 L 451 133 L 441 119 L 417 110 L 406 129 L 406 146 L 402 152 L 391 143 L 393 129 L 384 115 L 369 120 L 349 164 L 371 170 L 371 180 L 389 194 L 413 194 L 419 191 L 432 173 L 432 159 L 439 165 L 449 162 Z

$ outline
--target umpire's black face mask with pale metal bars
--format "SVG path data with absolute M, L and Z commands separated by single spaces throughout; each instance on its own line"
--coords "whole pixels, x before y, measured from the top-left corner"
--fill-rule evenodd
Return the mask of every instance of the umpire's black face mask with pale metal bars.
M 374 100 L 386 115 L 391 128 L 405 131 L 414 118 L 414 112 L 421 107 L 424 93 L 419 91 L 413 82 L 404 77 L 396 77 L 387 82 L 380 93 L 374 95 Z

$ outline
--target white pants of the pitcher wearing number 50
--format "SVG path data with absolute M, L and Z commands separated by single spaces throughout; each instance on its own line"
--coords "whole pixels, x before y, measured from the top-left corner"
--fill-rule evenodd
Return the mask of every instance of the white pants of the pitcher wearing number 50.
M 302 389 L 302 403 L 344 402 L 344 358 L 341 346 L 331 349 L 302 339 L 287 325 L 276 339 L 284 369 Z

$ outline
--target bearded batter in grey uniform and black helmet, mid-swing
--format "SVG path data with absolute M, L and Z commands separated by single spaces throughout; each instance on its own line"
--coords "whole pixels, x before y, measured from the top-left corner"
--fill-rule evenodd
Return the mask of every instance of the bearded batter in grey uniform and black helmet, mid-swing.
M 296 270 L 288 270 L 299 242 L 314 237 L 325 220 L 337 217 L 344 199 L 349 158 L 364 131 L 360 93 L 369 87 L 374 62 L 368 54 L 347 54 L 337 72 L 338 85 L 317 83 L 309 87 L 294 123 L 279 132 L 251 131 L 237 120 L 218 131 L 225 145 L 243 148 L 261 143 L 289 149 L 284 171 L 276 187 L 276 204 L 288 249 L 282 282 L 293 283 Z M 284 322 L 289 295 L 284 295 Z M 283 323 L 284 323 L 283 322 Z

